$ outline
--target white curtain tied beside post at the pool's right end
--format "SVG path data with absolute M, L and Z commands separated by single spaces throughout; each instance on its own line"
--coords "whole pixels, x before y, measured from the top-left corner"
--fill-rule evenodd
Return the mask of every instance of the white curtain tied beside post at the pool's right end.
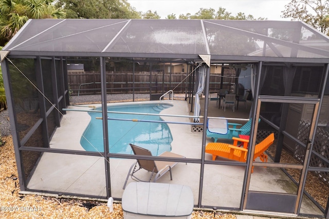
M 200 97 L 205 88 L 207 65 L 203 64 L 198 68 L 196 74 L 196 93 L 194 102 L 194 116 L 200 116 Z M 194 122 L 199 122 L 199 118 L 194 118 Z

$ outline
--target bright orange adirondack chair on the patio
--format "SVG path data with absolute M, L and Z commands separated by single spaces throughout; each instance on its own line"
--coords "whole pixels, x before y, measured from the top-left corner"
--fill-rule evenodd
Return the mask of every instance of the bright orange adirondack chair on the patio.
M 230 160 L 236 160 L 240 162 L 247 161 L 247 144 L 249 140 L 233 137 L 233 145 L 228 143 L 211 142 L 206 145 L 206 153 L 212 154 L 212 160 L 215 160 L 217 156 L 224 157 Z M 244 147 L 237 147 L 237 142 L 243 142 Z M 267 136 L 262 142 L 255 145 L 255 151 L 253 159 L 260 157 L 261 161 L 267 162 L 267 155 L 264 152 L 270 147 L 274 141 L 274 134 Z M 253 172 L 253 170 L 251 170 Z

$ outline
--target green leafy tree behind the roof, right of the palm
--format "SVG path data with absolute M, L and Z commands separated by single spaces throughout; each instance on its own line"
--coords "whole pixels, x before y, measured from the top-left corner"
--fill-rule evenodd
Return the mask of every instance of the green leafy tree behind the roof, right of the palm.
M 126 0 L 58 0 L 68 19 L 140 19 Z

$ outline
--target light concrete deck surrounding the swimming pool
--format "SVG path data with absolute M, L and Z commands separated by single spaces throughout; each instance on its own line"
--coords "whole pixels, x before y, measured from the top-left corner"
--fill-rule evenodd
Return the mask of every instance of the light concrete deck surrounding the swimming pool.
M 141 103 L 147 103 L 143 101 Z M 152 101 L 156 102 L 156 101 Z M 139 104 L 140 102 L 113 103 L 113 104 Z M 165 102 L 170 103 L 170 102 Z M 215 111 L 217 116 L 223 116 L 222 109 L 214 106 L 215 102 L 210 102 L 209 116 L 215 116 L 210 110 Z M 96 105 L 96 104 L 94 104 Z M 112 105 L 112 104 L 111 104 Z M 88 106 L 70 106 L 72 109 L 89 109 Z M 173 107 L 164 109 L 161 114 L 189 115 L 189 105 L 187 101 L 174 100 Z M 227 109 L 228 111 L 228 109 Z M 242 114 L 242 110 L 234 115 Z M 242 118 L 248 114 L 242 114 Z M 243 117 L 244 116 L 244 117 Z M 163 117 L 167 121 L 190 122 L 189 118 L 183 117 Z M 86 112 L 68 111 L 61 121 L 61 127 L 54 133 L 50 148 L 68 149 L 82 151 L 80 138 L 86 129 L 90 116 Z M 187 158 L 200 159 L 202 155 L 202 135 L 203 132 L 192 132 L 191 125 L 168 124 L 173 136 L 172 152 L 186 156 Z M 211 139 L 207 138 L 207 142 Z M 205 159 L 211 160 L 211 155 L 205 155 Z M 110 159 L 111 172 L 111 194 L 114 198 L 121 198 L 123 194 L 123 184 L 135 159 Z M 28 182 L 28 189 L 53 191 L 63 194 L 79 193 L 86 196 L 106 197 L 105 170 L 102 157 L 43 153 L 38 161 L 38 165 L 33 170 L 33 174 Z M 241 166 L 228 165 L 206 165 L 204 171 L 202 205 L 222 206 L 228 208 L 239 208 L 244 180 L 245 168 Z M 141 170 L 141 178 L 147 179 L 149 173 Z M 181 184 L 191 187 L 196 205 L 199 197 L 200 165 L 197 163 L 178 163 L 173 168 L 173 180 L 169 174 L 162 176 L 157 182 L 168 184 Z M 129 182 L 133 180 L 129 178 Z M 289 185 L 289 188 L 287 188 Z M 280 169 L 255 167 L 251 176 L 250 190 L 294 193 L 296 186 Z M 250 211 L 246 211 L 250 212 Z M 251 211 L 253 212 L 253 211 Z M 322 214 L 321 211 L 307 198 L 302 202 L 302 213 Z M 284 214 L 294 216 L 293 214 Z

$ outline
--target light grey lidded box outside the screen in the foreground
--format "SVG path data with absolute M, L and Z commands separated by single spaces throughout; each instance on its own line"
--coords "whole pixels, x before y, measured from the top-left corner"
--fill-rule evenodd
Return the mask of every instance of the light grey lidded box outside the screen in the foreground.
M 190 219 L 193 192 L 189 186 L 131 182 L 122 195 L 124 219 Z

